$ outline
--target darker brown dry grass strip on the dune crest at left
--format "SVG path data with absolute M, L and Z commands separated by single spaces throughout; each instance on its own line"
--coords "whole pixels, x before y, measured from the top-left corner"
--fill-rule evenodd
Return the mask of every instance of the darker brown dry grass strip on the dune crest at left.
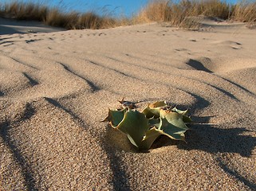
M 110 15 L 99 16 L 93 12 L 78 14 L 65 13 L 57 8 L 49 8 L 39 3 L 10 2 L 1 6 L 0 16 L 18 20 L 43 21 L 46 25 L 65 29 L 104 29 L 120 25 L 120 19 Z

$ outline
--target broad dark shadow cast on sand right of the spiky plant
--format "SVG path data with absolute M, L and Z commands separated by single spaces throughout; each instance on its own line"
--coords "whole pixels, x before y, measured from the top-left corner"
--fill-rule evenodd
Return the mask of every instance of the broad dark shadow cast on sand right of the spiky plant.
M 250 157 L 256 146 L 256 138 L 242 133 L 250 132 L 246 128 L 223 129 L 216 125 L 191 124 L 187 131 L 187 143 L 179 144 L 183 150 L 203 150 L 207 153 L 237 153 Z

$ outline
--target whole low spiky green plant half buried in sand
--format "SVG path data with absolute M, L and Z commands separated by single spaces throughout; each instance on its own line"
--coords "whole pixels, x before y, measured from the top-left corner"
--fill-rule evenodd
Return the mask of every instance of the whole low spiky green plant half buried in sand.
M 191 123 L 187 110 L 171 108 L 165 101 L 150 103 L 142 112 L 136 110 L 136 103 L 119 101 L 120 109 L 108 109 L 108 117 L 103 122 L 109 122 L 111 127 L 127 135 L 132 145 L 139 150 L 148 150 L 161 134 L 175 140 L 185 141 L 188 130 L 185 123 Z

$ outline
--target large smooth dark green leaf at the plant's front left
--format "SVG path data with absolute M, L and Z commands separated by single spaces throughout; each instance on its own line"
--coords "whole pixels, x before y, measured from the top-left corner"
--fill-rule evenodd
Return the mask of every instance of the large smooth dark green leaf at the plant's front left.
M 149 129 L 148 119 L 144 114 L 129 110 L 116 128 L 126 134 L 134 146 L 139 149 L 143 148 L 142 140 Z

